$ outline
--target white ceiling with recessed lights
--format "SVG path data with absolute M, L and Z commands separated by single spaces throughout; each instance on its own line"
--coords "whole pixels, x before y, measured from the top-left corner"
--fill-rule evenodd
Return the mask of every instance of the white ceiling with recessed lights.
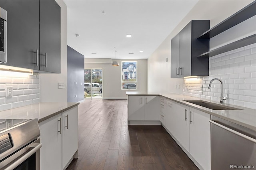
M 64 2 L 68 6 L 68 45 L 86 58 L 114 59 L 116 50 L 117 59 L 147 59 L 198 0 Z M 132 37 L 126 38 L 126 34 Z

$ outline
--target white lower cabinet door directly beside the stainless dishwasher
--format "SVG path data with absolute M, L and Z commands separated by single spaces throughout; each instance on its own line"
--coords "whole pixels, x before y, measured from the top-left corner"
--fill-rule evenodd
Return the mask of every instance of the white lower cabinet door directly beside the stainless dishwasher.
M 210 115 L 190 107 L 189 153 L 205 170 L 211 169 Z

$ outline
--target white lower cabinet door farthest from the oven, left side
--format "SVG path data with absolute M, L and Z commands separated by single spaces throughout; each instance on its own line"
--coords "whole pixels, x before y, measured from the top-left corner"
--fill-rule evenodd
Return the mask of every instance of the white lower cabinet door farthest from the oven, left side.
M 62 113 L 62 168 L 73 159 L 78 148 L 78 107 Z

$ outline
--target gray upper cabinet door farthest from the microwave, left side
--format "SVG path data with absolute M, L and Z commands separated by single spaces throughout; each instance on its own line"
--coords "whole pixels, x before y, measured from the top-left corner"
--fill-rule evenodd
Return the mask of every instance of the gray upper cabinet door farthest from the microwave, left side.
M 40 0 L 40 71 L 60 73 L 60 6 Z

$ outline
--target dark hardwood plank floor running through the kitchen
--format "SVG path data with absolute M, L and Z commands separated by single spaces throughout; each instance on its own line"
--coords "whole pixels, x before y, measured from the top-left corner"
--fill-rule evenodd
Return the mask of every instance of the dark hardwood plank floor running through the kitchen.
M 67 170 L 197 170 L 161 125 L 127 125 L 127 100 L 78 106 L 78 159 Z

